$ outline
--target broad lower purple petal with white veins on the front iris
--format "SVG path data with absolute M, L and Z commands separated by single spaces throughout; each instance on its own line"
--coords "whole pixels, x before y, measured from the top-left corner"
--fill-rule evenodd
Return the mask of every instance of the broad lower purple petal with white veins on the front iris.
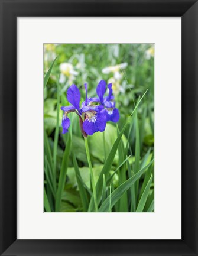
M 92 118 L 87 118 L 83 122 L 83 130 L 88 135 L 93 135 L 95 132 L 103 132 L 106 127 L 106 115 L 102 112 L 96 112 Z

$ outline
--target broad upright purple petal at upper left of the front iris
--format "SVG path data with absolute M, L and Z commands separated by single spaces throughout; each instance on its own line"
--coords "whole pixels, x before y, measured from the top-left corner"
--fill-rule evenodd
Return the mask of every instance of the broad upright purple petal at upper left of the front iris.
M 76 85 L 71 85 L 67 90 L 67 101 L 80 112 L 80 90 Z

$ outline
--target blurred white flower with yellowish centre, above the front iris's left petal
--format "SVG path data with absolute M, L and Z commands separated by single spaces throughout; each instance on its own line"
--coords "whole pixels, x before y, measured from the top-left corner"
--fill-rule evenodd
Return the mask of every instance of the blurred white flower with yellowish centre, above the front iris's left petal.
M 74 70 L 74 67 L 71 63 L 61 63 L 59 66 L 60 69 L 60 83 L 66 82 L 66 78 L 68 79 L 69 83 L 72 83 L 75 79 L 75 76 L 77 76 L 78 72 Z

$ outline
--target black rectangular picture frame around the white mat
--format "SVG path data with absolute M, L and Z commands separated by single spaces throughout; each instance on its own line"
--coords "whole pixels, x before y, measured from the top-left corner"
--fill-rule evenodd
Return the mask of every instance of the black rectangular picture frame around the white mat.
M 0 2 L 1 255 L 198 255 L 197 0 L 1 0 Z M 182 151 L 181 240 L 17 240 L 16 24 L 17 17 L 28 16 L 182 17 L 182 149 L 176 148 Z

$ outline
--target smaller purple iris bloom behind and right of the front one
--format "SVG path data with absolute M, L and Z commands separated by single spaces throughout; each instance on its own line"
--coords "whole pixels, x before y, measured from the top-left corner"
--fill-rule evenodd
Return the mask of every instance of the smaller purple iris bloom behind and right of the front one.
M 105 96 L 106 92 L 106 82 L 101 80 L 96 88 L 96 93 L 98 95 L 98 100 L 95 101 L 100 102 L 102 106 L 104 106 L 103 113 L 106 114 L 106 121 L 118 122 L 119 121 L 119 111 L 115 108 L 115 101 L 113 101 L 114 97 L 112 95 L 112 83 L 108 85 L 109 95 Z

